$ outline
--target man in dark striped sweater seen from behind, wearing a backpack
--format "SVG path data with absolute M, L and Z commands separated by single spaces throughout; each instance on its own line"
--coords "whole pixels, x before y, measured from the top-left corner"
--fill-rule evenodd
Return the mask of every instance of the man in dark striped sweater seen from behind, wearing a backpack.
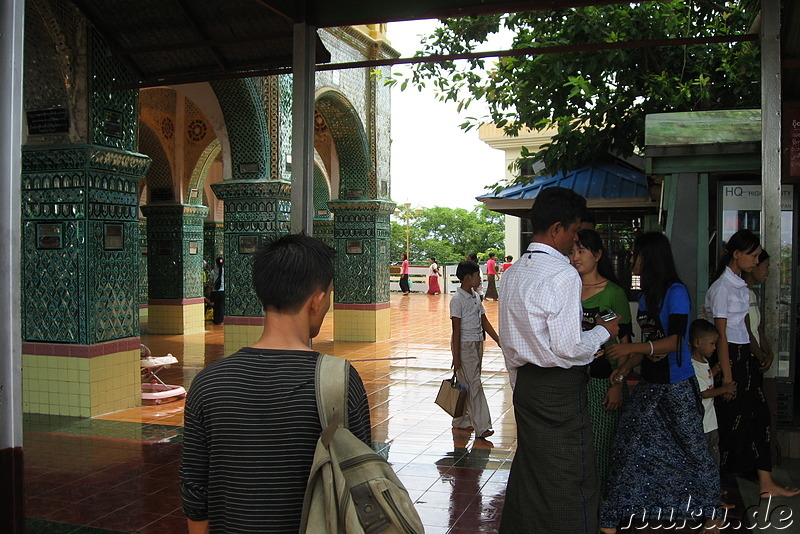
M 186 399 L 181 497 L 189 532 L 291 532 L 322 432 L 309 349 L 330 307 L 335 250 L 304 234 L 256 254 L 264 330 L 252 347 L 201 371 Z M 371 443 L 361 378 L 346 366 L 343 426 Z

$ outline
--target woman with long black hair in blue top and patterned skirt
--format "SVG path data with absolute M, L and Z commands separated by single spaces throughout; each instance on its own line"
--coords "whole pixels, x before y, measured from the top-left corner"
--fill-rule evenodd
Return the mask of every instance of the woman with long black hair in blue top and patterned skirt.
M 634 519 L 705 520 L 720 524 L 719 472 L 703 433 L 703 407 L 688 345 L 689 292 L 675 269 L 669 240 L 659 232 L 640 235 L 632 272 L 641 277 L 637 320 L 644 340 L 606 349 L 617 359 L 611 373 L 623 382 L 641 363 L 641 381 L 617 427 L 606 497 L 600 508 L 603 533 Z

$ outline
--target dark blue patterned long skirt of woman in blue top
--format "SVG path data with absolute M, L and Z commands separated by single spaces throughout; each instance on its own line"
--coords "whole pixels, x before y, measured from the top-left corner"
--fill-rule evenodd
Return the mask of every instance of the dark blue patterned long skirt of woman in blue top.
M 632 517 L 651 524 L 723 517 L 702 410 L 694 377 L 636 387 L 617 426 L 601 527 L 627 526 Z

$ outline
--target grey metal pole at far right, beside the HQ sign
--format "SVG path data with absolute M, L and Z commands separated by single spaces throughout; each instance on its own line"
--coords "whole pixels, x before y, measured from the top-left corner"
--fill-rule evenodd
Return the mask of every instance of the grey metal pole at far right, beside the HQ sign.
M 762 245 L 781 257 L 781 9 L 780 0 L 761 0 L 761 214 Z M 764 296 L 765 334 L 780 346 L 780 269 L 767 278 Z M 777 365 L 775 362 L 773 365 Z

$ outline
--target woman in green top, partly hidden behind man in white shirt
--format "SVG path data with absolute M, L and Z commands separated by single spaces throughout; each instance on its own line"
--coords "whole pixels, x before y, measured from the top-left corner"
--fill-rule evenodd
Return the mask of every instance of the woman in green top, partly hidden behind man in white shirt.
M 628 297 L 616 282 L 611 260 L 606 256 L 603 240 L 594 230 L 580 230 L 578 240 L 570 254 L 570 261 L 583 281 L 581 301 L 583 304 L 583 329 L 595 326 L 595 318 L 606 310 L 612 310 L 620 317 L 619 337 L 611 339 L 606 346 L 631 341 L 631 309 Z M 594 450 L 597 459 L 597 475 L 600 489 L 605 495 L 608 468 L 611 462 L 611 446 L 617 432 L 619 408 L 627 392 L 622 382 L 611 384 L 609 377 L 627 357 L 611 361 L 599 351 L 589 366 L 589 416 L 592 419 Z

